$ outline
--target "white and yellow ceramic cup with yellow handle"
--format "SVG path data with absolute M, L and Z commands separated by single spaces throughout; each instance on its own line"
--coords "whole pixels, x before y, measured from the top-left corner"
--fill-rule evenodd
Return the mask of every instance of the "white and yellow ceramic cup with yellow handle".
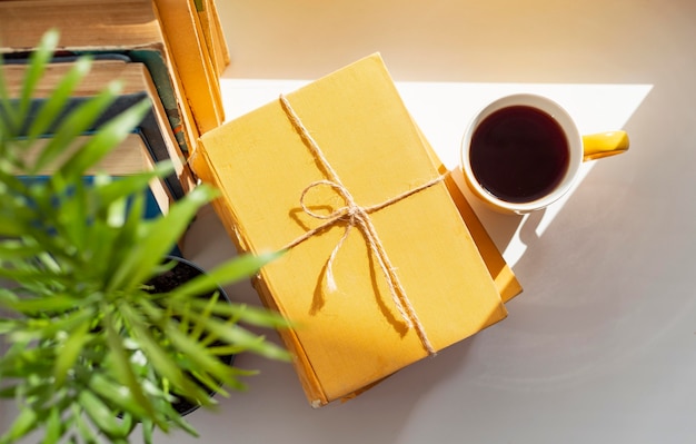
M 507 110 L 511 107 L 534 108 L 535 110 L 546 115 L 546 117 L 550 117 L 550 119 L 557 124 L 557 127 L 560 128 L 563 137 L 565 137 L 566 141 L 567 167 L 558 170 L 558 178 L 555 180 L 553 186 L 549 186 L 548 190 L 540 196 L 537 195 L 529 199 L 520 196 L 515 199 L 509 199 L 507 196 L 501 197 L 496 195 L 496 193 L 491 190 L 493 187 L 487 187 L 485 184 L 481 184 L 481 180 L 477 178 L 477 172 L 479 172 L 478 177 L 480 177 L 480 171 L 476 171 L 476 165 L 471 165 L 471 142 L 473 140 L 480 139 L 480 136 L 477 135 L 477 130 L 481 128 L 481 124 L 487 122 L 485 125 L 489 127 L 491 125 L 490 122 L 494 121 L 489 118 L 494 114 L 496 114 L 496 116 L 500 116 L 501 114 L 498 111 Z M 495 118 L 496 117 L 493 119 Z M 511 127 L 508 127 L 508 129 L 509 128 Z M 520 132 L 524 131 L 520 130 Z M 506 137 L 508 139 L 515 139 L 516 135 L 513 130 L 508 130 Z M 499 148 L 494 147 L 491 149 Z M 568 193 L 575 181 L 578 180 L 578 174 L 583 161 L 617 155 L 625 152 L 627 149 L 628 136 L 625 131 L 580 136 L 573 118 L 558 103 L 543 96 L 519 93 L 506 96 L 493 101 L 484 107 L 471 120 L 461 141 L 461 170 L 464 171 L 465 181 L 473 194 L 489 207 L 503 213 L 526 214 L 546 208 Z M 501 149 L 499 150 L 500 152 L 504 152 Z M 521 165 L 527 162 L 518 164 L 520 164 L 519 168 L 524 168 Z M 501 171 L 503 170 L 508 171 L 509 175 L 510 168 L 501 168 Z M 509 177 L 513 176 L 510 175 Z

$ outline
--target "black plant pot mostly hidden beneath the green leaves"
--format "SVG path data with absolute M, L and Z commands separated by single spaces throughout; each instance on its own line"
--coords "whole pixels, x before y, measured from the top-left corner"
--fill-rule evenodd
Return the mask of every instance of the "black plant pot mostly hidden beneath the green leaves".
M 151 293 L 167 293 L 173 290 L 177 286 L 185 284 L 188 280 L 193 279 L 196 276 L 205 274 L 206 272 L 193 264 L 192 262 L 185 259 L 179 256 L 167 256 L 166 262 L 175 262 L 176 265 L 169 269 L 168 272 L 158 275 L 150 279 L 147 285 L 152 287 Z M 218 287 L 217 292 L 219 293 L 219 298 L 221 300 L 230 302 L 227 293 L 221 287 Z M 215 293 L 199 295 L 198 297 L 208 298 L 212 297 Z M 213 345 L 219 345 L 215 344 Z M 235 362 L 233 354 L 220 356 L 220 361 L 222 361 L 227 365 L 232 365 Z M 202 385 L 201 385 L 202 386 Z M 205 387 L 208 391 L 210 396 L 216 394 L 216 391 L 211 391 L 208 387 Z M 189 402 L 188 399 L 180 398 L 178 402 L 172 404 L 172 407 L 181 415 L 188 415 L 189 413 L 198 410 L 200 407 L 199 404 L 195 404 Z

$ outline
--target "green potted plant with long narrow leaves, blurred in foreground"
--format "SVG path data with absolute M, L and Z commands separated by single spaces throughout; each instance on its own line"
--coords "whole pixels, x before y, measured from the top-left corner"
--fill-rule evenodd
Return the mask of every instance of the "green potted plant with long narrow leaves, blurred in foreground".
M 37 431 L 43 443 L 126 443 L 138 424 L 148 443 L 155 428 L 196 434 L 172 402 L 212 405 L 206 388 L 220 382 L 243 388 L 240 376 L 250 373 L 223 365 L 220 355 L 288 358 L 239 325 L 285 326 L 277 314 L 197 295 L 251 276 L 277 254 L 239 256 L 171 292 L 148 293 L 143 283 L 170 267 L 162 258 L 216 191 L 199 186 L 167 215 L 146 219 L 148 182 L 171 165 L 84 182 L 87 168 L 138 125 L 147 102 L 101 126 L 47 180 L 18 178 L 56 162 L 119 91 L 113 85 L 59 119 L 89 70 L 89 58 L 81 58 L 28 121 L 32 91 L 57 41 L 56 32 L 47 33 L 31 55 L 20 97 L 9 97 L 0 71 L 0 277 L 7 280 L 0 339 L 8 347 L 0 357 L 0 395 L 14 398 L 19 411 L 0 443 Z M 58 120 L 36 161 L 24 162 L 23 152 Z

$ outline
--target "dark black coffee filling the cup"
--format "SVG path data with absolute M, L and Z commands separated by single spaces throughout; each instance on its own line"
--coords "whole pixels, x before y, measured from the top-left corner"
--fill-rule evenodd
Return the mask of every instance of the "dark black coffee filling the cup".
M 469 148 L 471 170 L 491 195 L 509 203 L 554 190 L 568 169 L 568 141 L 556 120 L 527 106 L 503 108 L 478 126 Z

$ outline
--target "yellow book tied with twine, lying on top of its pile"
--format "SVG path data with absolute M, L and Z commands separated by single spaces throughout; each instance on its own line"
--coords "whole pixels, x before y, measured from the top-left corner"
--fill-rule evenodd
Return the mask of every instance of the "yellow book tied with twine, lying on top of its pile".
M 506 316 L 378 55 L 209 131 L 192 160 L 241 250 L 291 246 L 256 287 L 294 323 L 280 334 L 312 406 Z

